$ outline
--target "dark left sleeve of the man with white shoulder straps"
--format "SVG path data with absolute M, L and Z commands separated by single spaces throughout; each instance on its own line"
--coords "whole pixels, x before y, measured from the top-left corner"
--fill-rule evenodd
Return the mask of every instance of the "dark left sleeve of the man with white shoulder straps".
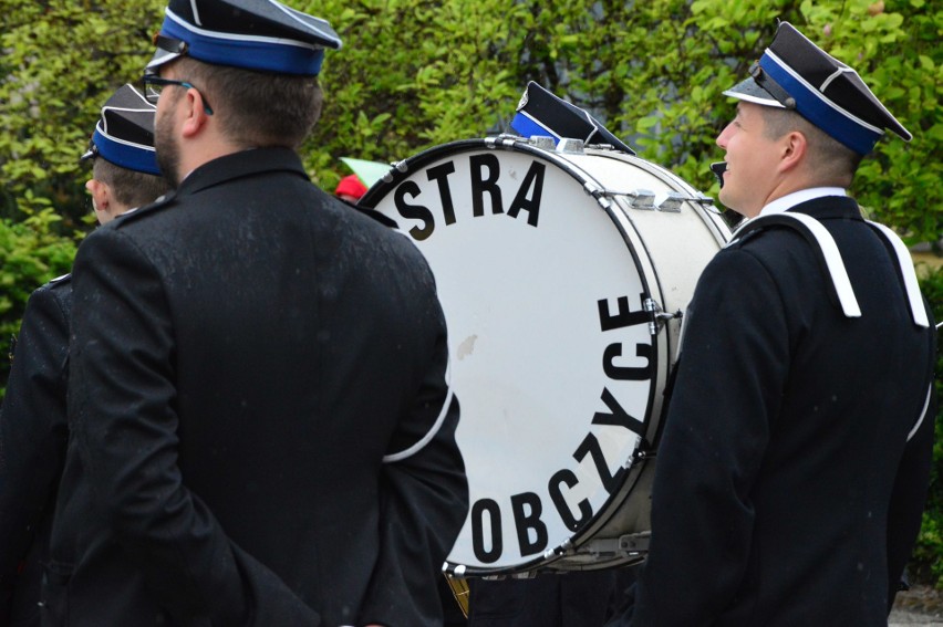
M 754 526 L 750 488 L 787 379 L 784 311 L 747 252 L 721 251 L 698 281 L 659 446 L 632 625 L 711 625 L 737 592 Z

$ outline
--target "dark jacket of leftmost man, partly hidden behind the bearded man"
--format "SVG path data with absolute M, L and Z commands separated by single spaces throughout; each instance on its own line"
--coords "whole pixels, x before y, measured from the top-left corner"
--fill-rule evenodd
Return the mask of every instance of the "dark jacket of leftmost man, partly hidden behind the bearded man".
M 65 458 L 72 282 L 30 295 L 0 408 L 0 625 L 39 625 L 55 489 Z

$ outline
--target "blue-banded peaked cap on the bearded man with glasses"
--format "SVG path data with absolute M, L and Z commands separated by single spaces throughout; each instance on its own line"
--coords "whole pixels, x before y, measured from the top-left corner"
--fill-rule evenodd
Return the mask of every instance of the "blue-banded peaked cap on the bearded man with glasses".
M 276 0 L 170 0 L 147 72 L 178 56 L 246 70 L 317 76 L 341 48 L 327 20 Z

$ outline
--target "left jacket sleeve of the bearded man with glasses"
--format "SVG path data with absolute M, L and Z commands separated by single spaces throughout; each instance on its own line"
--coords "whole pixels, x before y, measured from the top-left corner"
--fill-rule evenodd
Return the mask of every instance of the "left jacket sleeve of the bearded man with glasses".
M 120 229 L 80 247 L 69 416 L 110 533 L 184 625 L 317 625 L 226 535 L 177 462 L 173 313 L 162 276 Z

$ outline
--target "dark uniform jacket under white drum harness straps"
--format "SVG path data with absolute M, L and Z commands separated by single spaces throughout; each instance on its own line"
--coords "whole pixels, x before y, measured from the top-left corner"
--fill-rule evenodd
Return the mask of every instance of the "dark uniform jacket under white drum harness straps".
M 841 251 L 861 317 L 798 231 L 761 229 L 701 276 L 657 451 L 632 625 L 887 625 L 924 505 L 934 330 L 850 198 L 790 209 Z M 931 317 L 932 321 L 932 317 Z

